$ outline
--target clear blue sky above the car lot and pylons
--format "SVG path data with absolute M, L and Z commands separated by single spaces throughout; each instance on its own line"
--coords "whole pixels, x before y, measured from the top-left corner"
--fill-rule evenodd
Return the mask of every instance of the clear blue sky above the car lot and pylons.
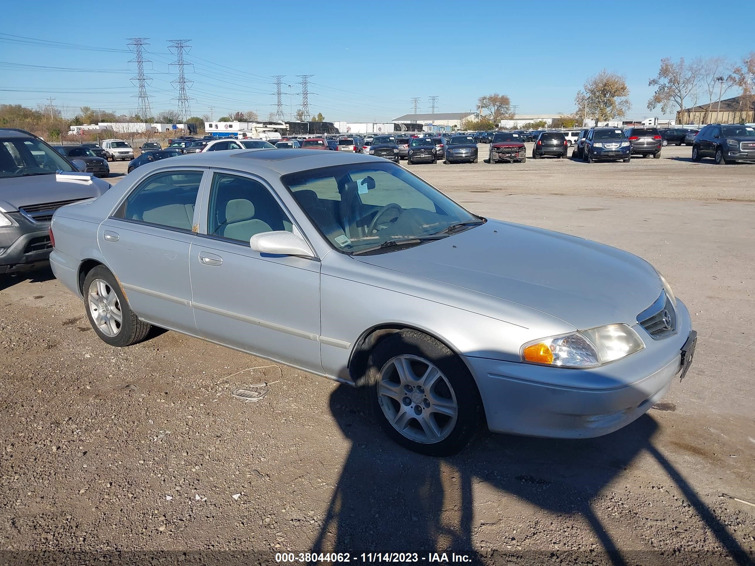
M 31 7 L 31 8 L 30 8 Z M 504 9 L 505 8 L 505 9 Z M 312 74 L 310 110 L 325 119 L 390 120 L 411 111 L 473 109 L 482 94 L 508 94 L 520 114 L 572 112 L 585 78 L 606 68 L 626 75 L 630 118 L 646 109 L 661 57 L 740 59 L 755 49 L 755 2 L 9 2 L 2 33 L 88 45 L 103 51 L 0 41 L 0 61 L 59 67 L 0 66 L 0 103 L 36 106 L 54 97 L 72 115 L 79 106 L 128 113 L 136 106 L 135 66 L 126 38 L 149 38 L 153 112 L 174 108 L 168 39 L 191 39 L 186 60 L 194 115 L 275 110 L 270 75 L 288 85 L 294 109 L 299 79 Z M 738 28 L 737 21 L 750 29 Z M 634 34 L 633 29 L 642 31 Z M 721 31 L 711 32 L 720 29 Z M 686 31 L 680 31 L 686 30 Z M 724 31 L 726 30 L 726 31 Z M 581 37 L 594 37 L 587 42 Z M 637 36 L 635 41 L 633 36 Z M 716 36 L 719 38 L 716 40 Z M 624 39 L 629 37 L 629 39 Z M 647 48 L 647 38 L 657 38 Z M 0 35 L 0 40 L 14 39 Z M 25 40 L 20 40 L 25 41 Z M 87 69 L 72 71 L 70 69 Z M 95 69 L 94 71 L 91 69 Z M 174 70 L 174 69 L 172 69 Z M 11 90 L 11 91 L 9 91 Z M 701 101 L 702 102 L 702 101 Z

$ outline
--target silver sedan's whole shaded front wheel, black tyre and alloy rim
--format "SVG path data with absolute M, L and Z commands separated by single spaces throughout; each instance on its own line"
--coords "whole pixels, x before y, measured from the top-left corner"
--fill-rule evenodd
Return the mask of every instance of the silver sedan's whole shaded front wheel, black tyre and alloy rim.
M 482 402 L 467 365 L 418 331 L 385 338 L 368 361 L 372 411 L 390 438 L 429 456 L 460 451 L 482 420 Z

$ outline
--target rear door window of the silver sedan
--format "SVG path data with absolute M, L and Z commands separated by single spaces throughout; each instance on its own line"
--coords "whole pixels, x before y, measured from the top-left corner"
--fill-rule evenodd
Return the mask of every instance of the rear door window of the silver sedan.
M 201 171 L 173 171 L 149 177 L 128 195 L 116 218 L 191 231 Z

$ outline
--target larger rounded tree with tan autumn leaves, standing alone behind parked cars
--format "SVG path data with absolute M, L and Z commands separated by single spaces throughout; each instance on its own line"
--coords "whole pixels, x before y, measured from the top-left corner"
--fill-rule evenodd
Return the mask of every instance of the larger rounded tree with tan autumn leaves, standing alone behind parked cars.
M 624 75 L 603 69 L 597 75 L 588 78 L 582 90 L 575 96 L 575 118 L 622 118 L 632 106 L 628 97 L 629 87 Z

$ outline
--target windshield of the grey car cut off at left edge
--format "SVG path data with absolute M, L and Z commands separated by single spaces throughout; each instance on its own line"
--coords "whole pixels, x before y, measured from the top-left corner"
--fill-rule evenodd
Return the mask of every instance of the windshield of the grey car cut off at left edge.
M 76 171 L 58 152 L 40 140 L 13 137 L 0 140 L 0 177 L 47 175 Z

